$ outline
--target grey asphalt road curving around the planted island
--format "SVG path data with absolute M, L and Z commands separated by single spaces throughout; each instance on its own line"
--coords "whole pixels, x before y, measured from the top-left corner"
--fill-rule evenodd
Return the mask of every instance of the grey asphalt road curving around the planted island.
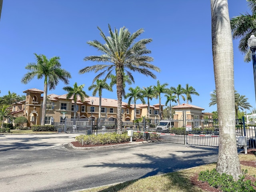
M 216 162 L 217 148 L 157 143 L 70 150 L 75 134 L 0 135 L 0 192 L 70 192 Z

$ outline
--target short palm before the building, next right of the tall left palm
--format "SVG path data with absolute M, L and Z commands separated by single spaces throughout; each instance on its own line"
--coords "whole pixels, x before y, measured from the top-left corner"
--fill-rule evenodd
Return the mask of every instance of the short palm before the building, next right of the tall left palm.
M 86 97 L 89 97 L 86 92 L 83 90 L 84 84 L 78 86 L 75 82 L 74 87 L 66 86 L 63 88 L 63 90 L 67 91 L 67 99 L 72 98 L 74 100 L 74 118 L 76 118 L 76 102 L 78 99 L 78 96 L 80 97 L 80 100 L 84 102 L 84 99 Z

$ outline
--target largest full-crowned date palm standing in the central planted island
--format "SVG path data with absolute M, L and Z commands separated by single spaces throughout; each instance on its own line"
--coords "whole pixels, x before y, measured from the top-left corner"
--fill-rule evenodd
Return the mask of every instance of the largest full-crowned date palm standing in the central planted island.
M 149 62 L 153 61 L 153 58 L 147 56 L 151 51 L 146 48 L 146 45 L 152 42 L 152 39 L 142 39 L 135 42 L 136 38 L 140 36 L 144 30 L 139 29 L 133 34 L 130 34 L 127 28 L 120 28 L 119 32 L 115 28 L 112 31 L 110 25 L 108 25 L 110 36 L 105 36 L 104 32 L 100 30 L 100 35 L 106 42 L 100 43 L 97 40 L 87 42 L 90 46 L 101 51 L 102 55 L 99 56 L 86 56 L 84 61 L 104 62 L 108 64 L 97 64 L 94 66 L 88 66 L 79 70 L 80 74 L 86 72 L 100 72 L 93 80 L 100 78 L 106 73 L 106 78 L 111 75 L 112 72 L 116 75 L 116 93 L 118 100 L 117 107 L 117 132 L 122 133 L 122 95 L 124 93 L 124 76 L 128 75 L 130 79 L 132 72 L 139 72 L 145 76 L 150 76 L 156 79 L 156 75 L 151 70 L 159 72 L 160 69 Z

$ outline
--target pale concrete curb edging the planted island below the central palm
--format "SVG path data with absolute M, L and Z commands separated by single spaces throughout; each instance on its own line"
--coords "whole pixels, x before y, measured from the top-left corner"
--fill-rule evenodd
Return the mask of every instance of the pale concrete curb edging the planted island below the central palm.
M 97 146 L 97 147 L 75 147 L 71 142 L 69 142 L 69 143 L 64 143 L 63 146 L 69 150 L 86 151 L 86 150 L 97 150 L 97 149 L 107 149 L 107 148 L 119 148 L 119 147 L 132 146 L 135 144 L 147 144 L 149 142 L 150 141 L 140 141 L 140 142 L 130 142 L 130 143 L 124 143 L 124 144 Z

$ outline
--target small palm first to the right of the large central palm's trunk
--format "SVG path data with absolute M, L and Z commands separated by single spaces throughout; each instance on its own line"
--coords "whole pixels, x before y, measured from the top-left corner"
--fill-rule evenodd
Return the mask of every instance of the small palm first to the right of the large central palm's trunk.
M 136 101 L 139 99 L 143 104 L 145 104 L 144 96 L 143 96 L 143 90 L 136 86 L 135 88 L 130 87 L 128 89 L 130 92 L 125 95 L 125 99 L 128 98 L 128 105 L 131 104 L 131 102 L 134 102 L 134 120 L 136 120 Z

